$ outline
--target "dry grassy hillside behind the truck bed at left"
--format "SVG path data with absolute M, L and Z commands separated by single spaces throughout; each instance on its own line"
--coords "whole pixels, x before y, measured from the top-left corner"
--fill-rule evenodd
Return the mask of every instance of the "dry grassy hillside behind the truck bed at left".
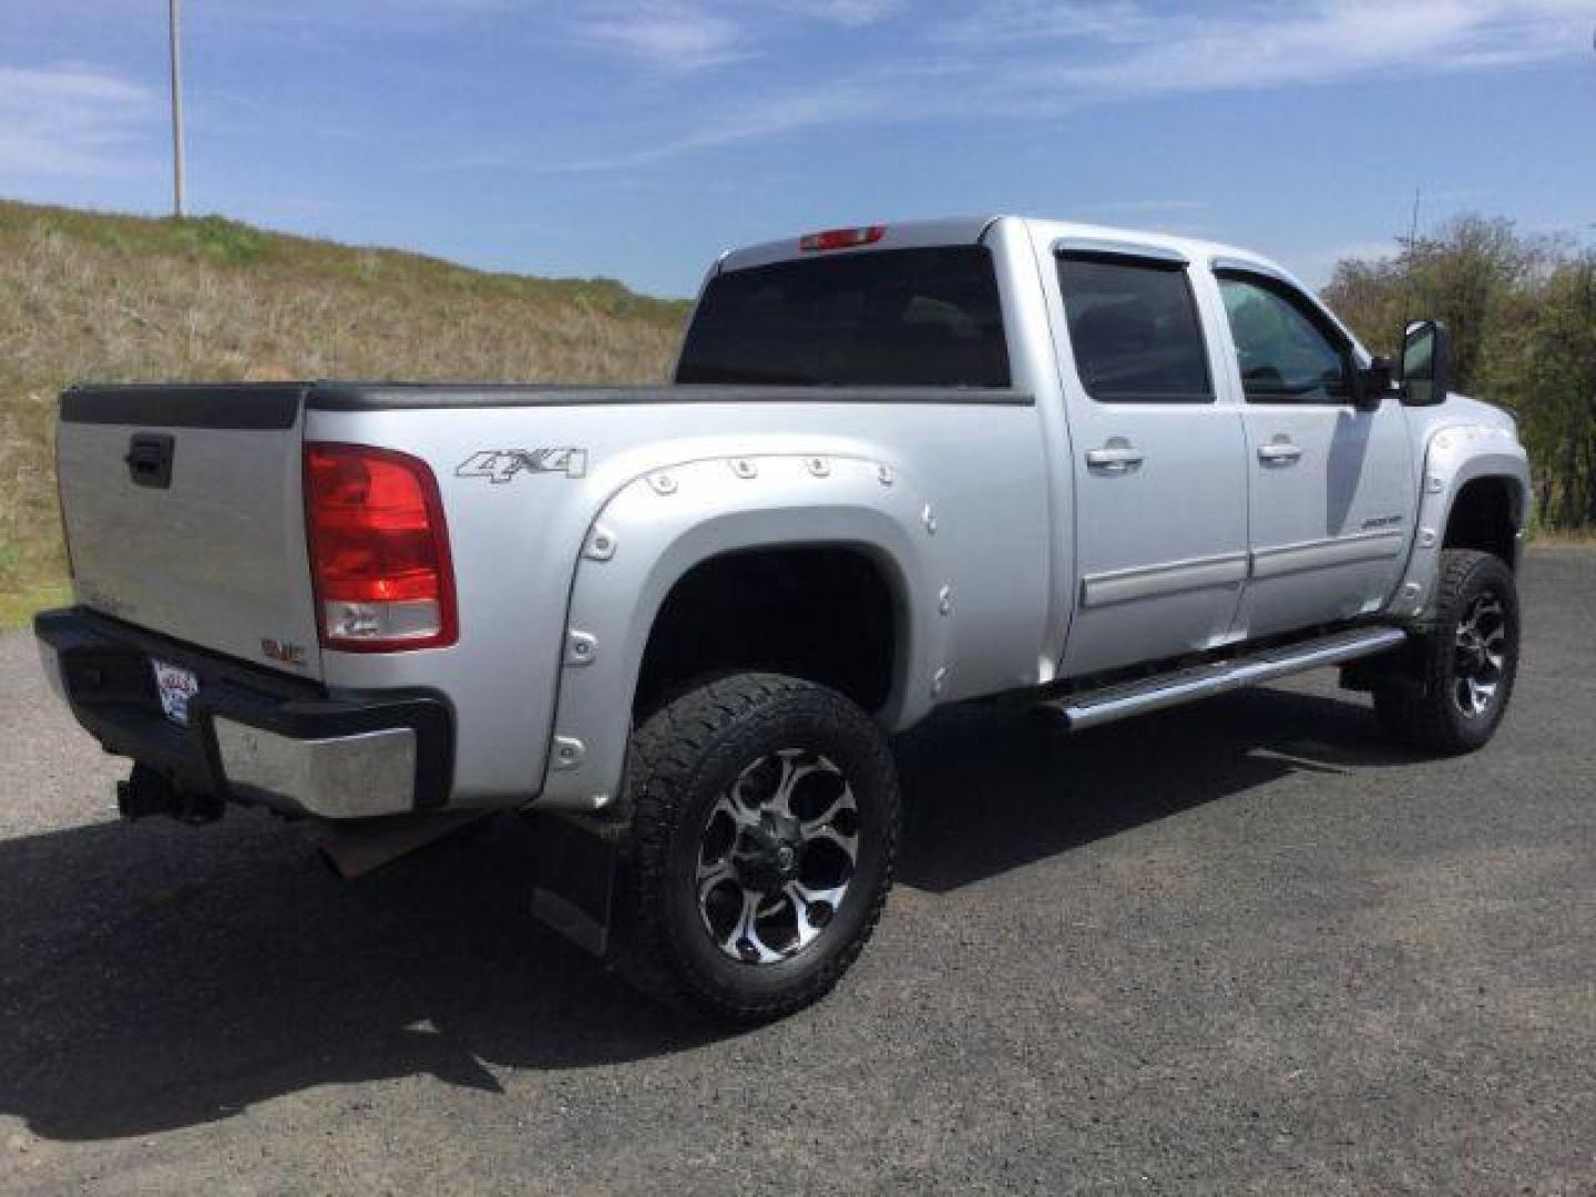
M 65 573 L 51 418 L 73 380 L 648 381 L 685 316 L 608 279 L 0 201 L 0 626 Z

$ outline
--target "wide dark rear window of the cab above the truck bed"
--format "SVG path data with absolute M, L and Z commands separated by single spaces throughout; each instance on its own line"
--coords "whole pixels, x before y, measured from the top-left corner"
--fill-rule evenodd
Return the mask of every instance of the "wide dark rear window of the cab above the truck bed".
M 991 251 L 878 249 L 723 271 L 699 300 L 677 381 L 1005 388 Z

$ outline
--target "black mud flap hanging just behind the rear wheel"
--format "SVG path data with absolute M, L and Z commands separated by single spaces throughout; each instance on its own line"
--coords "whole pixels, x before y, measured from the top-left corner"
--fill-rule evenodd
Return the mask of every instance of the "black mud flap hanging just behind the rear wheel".
M 624 827 L 552 812 L 531 820 L 531 913 L 594 956 L 606 956 Z

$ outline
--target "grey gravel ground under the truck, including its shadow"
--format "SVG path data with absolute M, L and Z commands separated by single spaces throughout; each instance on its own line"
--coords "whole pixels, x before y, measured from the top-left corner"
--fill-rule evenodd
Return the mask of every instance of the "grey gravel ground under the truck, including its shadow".
M 1524 587 L 1472 758 L 1329 674 L 916 733 L 873 945 L 733 1037 L 535 926 L 516 820 L 354 884 L 117 824 L 0 637 L 0 1191 L 1596 1192 L 1596 552 Z

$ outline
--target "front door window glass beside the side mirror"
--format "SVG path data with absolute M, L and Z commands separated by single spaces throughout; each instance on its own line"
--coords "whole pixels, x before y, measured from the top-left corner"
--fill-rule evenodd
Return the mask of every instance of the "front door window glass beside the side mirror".
M 1254 404 L 1344 404 L 1347 348 L 1290 290 L 1242 276 L 1219 276 L 1224 313 Z

